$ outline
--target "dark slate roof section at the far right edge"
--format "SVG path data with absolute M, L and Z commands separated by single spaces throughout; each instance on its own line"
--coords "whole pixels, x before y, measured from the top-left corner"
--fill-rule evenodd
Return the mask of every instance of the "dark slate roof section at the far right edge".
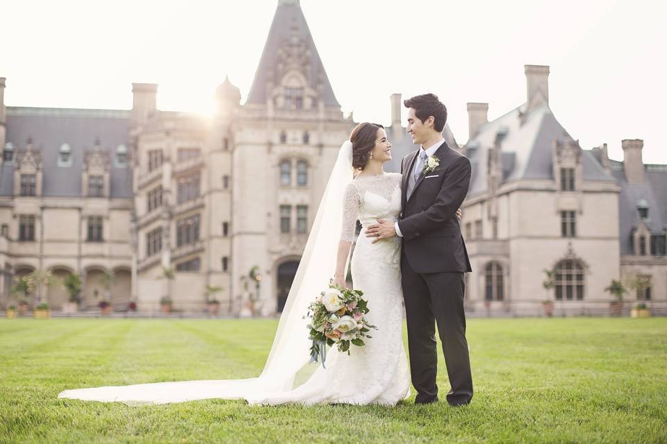
M 644 165 L 645 182 L 630 185 L 625 179 L 623 162 L 611 162 L 611 174 L 620 185 L 618 196 L 620 254 L 632 255 L 632 234 L 639 225 L 637 203 L 648 204 L 644 223 L 650 232 L 664 234 L 667 228 L 667 165 Z M 648 244 L 647 244 L 648 246 Z

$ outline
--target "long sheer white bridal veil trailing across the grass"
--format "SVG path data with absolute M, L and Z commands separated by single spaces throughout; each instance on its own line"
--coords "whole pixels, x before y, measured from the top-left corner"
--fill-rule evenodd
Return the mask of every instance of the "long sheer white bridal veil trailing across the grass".
M 308 305 L 327 287 L 336 266 L 336 250 L 343 223 L 343 194 L 352 182 L 352 143 L 346 141 L 338 151 L 334 169 L 324 189 L 311 234 L 280 316 L 269 357 L 261 375 L 249 379 L 220 379 L 183 382 L 158 382 L 130 386 L 105 386 L 66 390 L 58 398 L 125 402 L 126 404 L 165 404 L 210 398 L 261 398 L 263 393 L 290 391 L 307 381 L 310 360 L 308 325 L 304 315 Z M 299 376 L 297 378 L 297 375 Z

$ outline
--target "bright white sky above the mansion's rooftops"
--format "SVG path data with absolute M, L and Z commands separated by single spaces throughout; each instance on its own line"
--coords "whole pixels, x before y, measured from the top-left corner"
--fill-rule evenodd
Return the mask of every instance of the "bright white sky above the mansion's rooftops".
M 211 112 L 229 74 L 245 101 L 278 0 L 3 0 L 10 106 L 118 108 L 158 83 L 158 108 Z M 435 92 L 459 143 L 466 102 L 489 119 L 525 101 L 523 65 L 550 65 L 550 106 L 583 148 L 644 139 L 667 164 L 667 7 L 634 1 L 302 0 L 338 101 L 390 121 L 389 95 Z M 660 56 L 660 54 L 663 54 Z

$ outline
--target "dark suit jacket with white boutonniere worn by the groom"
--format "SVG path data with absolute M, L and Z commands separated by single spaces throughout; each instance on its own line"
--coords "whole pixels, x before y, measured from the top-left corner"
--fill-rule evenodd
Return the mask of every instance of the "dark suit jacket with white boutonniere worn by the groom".
M 470 187 L 470 160 L 443 143 L 434 154 L 440 161 L 436 171 L 421 173 L 407 198 L 408 179 L 418 153 L 406 155 L 401 164 L 398 228 L 403 234 L 403 253 L 418 273 L 470 272 L 468 250 L 456 217 Z

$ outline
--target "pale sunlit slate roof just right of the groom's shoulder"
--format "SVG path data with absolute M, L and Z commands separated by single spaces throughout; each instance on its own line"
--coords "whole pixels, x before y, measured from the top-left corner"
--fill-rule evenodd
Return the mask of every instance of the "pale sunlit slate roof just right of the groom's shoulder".
M 488 150 L 493 148 L 498 133 L 505 134 L 500 143 L 503 180 L 554 178 L 553 142 L 555 139 L 565 142 L 571 137 L 547 105 L 527 114 L 523 112 L 525 108 L 525 104 L 521 105 L 494 121 L 484 123 L 477 135 L 466 144 L 466 155 L 472 163 L 468 195 L 486 191 Z M 614 180 L 586 150 L 582 150 L 582 174 L 584 180 Z

